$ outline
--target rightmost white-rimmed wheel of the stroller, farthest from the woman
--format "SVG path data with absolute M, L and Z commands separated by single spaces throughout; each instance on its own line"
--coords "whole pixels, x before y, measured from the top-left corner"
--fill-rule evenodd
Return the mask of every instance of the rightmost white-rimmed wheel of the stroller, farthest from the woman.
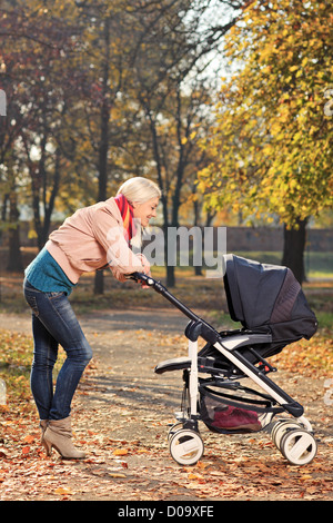
M 303 428 L 284 434 L 280 446 L 282 454 L 292 465 L 307 465 L 316 455 L 316 441 Z

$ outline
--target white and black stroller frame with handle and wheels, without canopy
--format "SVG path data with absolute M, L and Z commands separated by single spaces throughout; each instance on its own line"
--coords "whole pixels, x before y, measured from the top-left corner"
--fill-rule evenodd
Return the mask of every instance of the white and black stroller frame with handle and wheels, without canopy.
M 175 413 L 176 423 L 169 431 L 169 450 L 171 456 L 180 465 L 194 465 L 203 455 L 204 445 L 199 433 L 199 421 L 202 416 L 199 411 L 199 397 L 201 391 L 209 391 L 210 385 L 221 388 L 243 389 L 250 395 L 260 397 L 255 399 L 242 399 L 240 397 L 221 394 L 223 403 L 226 405 L 242 406 L 243 408 L 256 411 L 264 414 L 262 430 L 271 427 L 271 436 L 278 450 L 284 457 L 294 465 L 309 464 L 316 454 L 316 442 L 313 435 L 312 425 L 306 420 L 304 408 L 281 387 L 268 377 L 269 372 L 275 372 L 262 356 L 258 356 L 256 364 L 249 362 L 238 349 L 251 344 L 260 345 L 271 342 L 270 334 L 253 333 L 251 330 L 229 330 L 219 333 L 210 324 L 194 314 L 189 307 L 173 296 L 162 284 L 141 273 L 133 273 L 130 279 L 141 282 L 152 287 L 161 294 L 179 310 L 181 310 L 190 323 L 185 328 L 188 338 L 189 356 L 169 359 L 155 367 L 158 374 L 165 371 L 183 369 L 184 392 L 183 398 L 188 399 L 188 407 Z M 224 358 L 233 364 L 233 374 L 211 365 L 211 358 L 200 356 L 198 352 L 199 337 L 215 347 Z M 238 372 L 239 369 L 239 372 Z M 200 373 L 211 374 L 211 378 L 200 379 Z M 249 377 L 262 391 L 261 394 L 252 388 L 240 386 L 236 379 Z M 235 399 L 235 401 L 234 401 Z M 241 402 L 241 403 L 240 403 Z M 242 402 L 245 402 L 244 405 Z M 250 407 L 249 407 L 250 403 Z M 265 407 L 263 407 L 265 405 Z M 292 417 L 279 418 L 275 424 L 271 424 L 276 414 L 287 413 Z M 233 431 L 214 431 L 225 434 L 234 434 Z M 255 431 L 259 432 L 259 431 Z

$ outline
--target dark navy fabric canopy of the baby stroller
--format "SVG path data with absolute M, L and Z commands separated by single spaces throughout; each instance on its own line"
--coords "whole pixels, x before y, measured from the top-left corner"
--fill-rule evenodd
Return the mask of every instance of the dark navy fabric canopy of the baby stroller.
M 317 322 L 291 269 L 232 254 L 223 258 L 224 288 L 234 322 L 251 330 L 271 332 L 275 343 L 313 336 Z

